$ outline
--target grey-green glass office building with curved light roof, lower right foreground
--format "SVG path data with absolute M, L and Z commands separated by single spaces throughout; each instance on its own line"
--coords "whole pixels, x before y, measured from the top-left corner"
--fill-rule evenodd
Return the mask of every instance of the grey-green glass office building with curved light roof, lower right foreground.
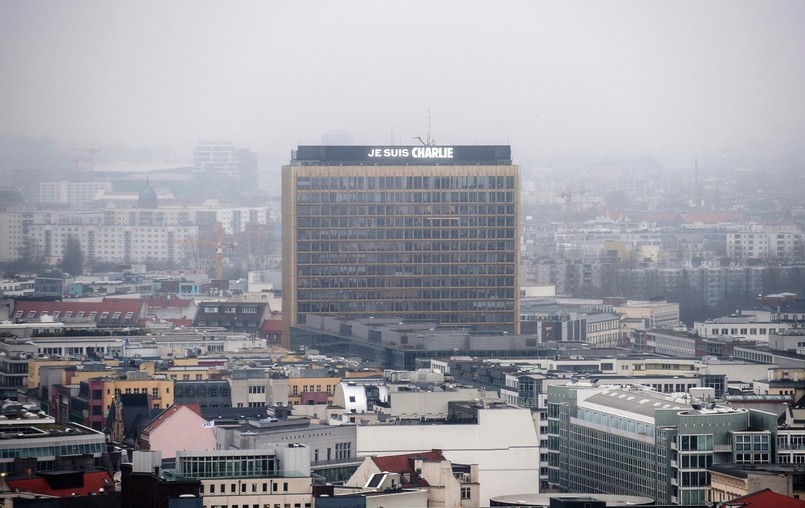
M 561 492 L 626 494 L 701 505 L 707 468 L 773 463 L 777 417 L 640 386 L 548 387 L 549 483 Z

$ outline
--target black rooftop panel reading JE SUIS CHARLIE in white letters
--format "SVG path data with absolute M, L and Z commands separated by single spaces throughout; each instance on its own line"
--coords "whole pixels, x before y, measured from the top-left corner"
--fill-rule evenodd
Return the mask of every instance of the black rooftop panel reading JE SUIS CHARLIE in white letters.
M 300 146 L 293 155 L 303 165 L 509 165 L 508 145 Z

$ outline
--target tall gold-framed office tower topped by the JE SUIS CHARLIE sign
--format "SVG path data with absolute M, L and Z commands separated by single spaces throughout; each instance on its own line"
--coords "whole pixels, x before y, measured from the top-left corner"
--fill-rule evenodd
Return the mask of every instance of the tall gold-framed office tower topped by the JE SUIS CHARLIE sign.
M 509 146 L 300 146 L 282 170 L 283 319 L 519 332 Z

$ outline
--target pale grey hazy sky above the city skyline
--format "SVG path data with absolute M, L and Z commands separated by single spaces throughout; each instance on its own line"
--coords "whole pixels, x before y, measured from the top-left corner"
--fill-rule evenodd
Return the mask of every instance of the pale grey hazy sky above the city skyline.
M 0 2 L 0 135 L 805 154 L 805 2 Z

